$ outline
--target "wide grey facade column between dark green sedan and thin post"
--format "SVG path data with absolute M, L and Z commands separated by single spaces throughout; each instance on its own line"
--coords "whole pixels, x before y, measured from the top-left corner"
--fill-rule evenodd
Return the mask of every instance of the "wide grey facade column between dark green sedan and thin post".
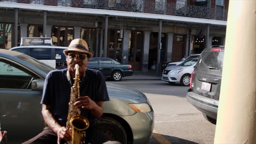
M 144 32 L 144 46 L 143 46 L 143 56 L 142 56 L 142 71 L 148 71 L 148 54 L 149 54 L 149 40 L 150 32 Z

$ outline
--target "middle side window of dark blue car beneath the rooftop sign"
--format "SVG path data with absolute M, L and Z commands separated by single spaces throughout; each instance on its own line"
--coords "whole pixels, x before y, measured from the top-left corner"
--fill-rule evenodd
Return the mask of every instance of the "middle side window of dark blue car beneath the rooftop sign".
M 29 55 L 36 59 L 51 59 L 51 49 L 31 48 Z

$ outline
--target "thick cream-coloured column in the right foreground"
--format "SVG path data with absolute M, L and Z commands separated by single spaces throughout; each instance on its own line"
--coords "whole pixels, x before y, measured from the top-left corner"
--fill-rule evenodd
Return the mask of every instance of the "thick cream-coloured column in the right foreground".
M 255 10 L 256 1 L 229 1 L 214 143 L 256 141 Z

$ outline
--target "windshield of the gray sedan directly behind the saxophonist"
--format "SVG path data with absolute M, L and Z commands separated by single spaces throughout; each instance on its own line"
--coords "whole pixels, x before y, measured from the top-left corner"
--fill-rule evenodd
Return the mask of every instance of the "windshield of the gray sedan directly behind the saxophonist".
M 51 70 L 54 70 L 54 68 L 50 67 L 49 65 L 39 62 L 37 59 L 34 59 L 30 56 L 19 55 L 17 57 L 22 59 L 23 61 L 26 61 L 27 63 L 33 64 L 34 67 L 37 67 L 38 69 L 43 70 L 46 73 L 49 73 Z

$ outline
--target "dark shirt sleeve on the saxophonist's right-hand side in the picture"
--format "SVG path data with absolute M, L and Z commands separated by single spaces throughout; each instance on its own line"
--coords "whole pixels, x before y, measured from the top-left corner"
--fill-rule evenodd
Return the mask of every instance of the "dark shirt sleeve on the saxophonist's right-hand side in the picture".
M 107 86 L 105 82 L 104 75 L 101 73 L 101 71 L 97 71 L 97 77 L 98 77 L 98 88 L 96 92 L 96 99 L 95 101 L 108 101 L 108 91 L 107 91 Z

